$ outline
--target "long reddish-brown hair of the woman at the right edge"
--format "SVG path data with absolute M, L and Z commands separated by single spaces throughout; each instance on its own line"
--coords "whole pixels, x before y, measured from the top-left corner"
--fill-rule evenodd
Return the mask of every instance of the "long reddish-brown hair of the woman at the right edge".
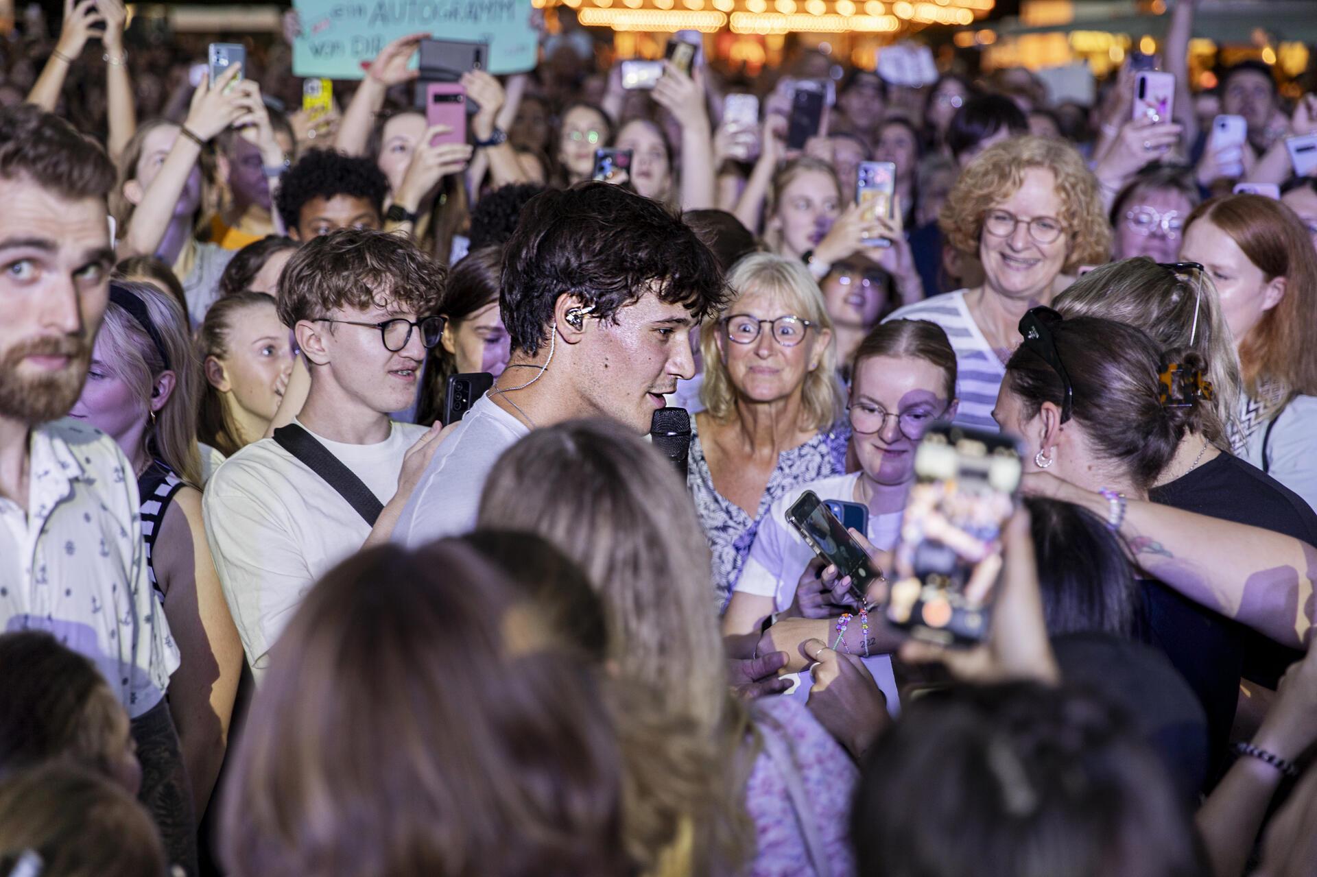
M 1285 295 L 1237 338 L 1239 365 L 1249 395 L 1260 398 L 1262 383 L 1280 399 L 1317 395 L 1317 348 L 1309 334 L 1317 327 L 1317 252 L 1295 212 L 1262 195 L 1229 195 L 1198 204 L 1184 230 L 1200 219 L 1229 234 L 1267 280 L 1285 278 Z M 1271 395 L 1271 394 L 1266 394 Z

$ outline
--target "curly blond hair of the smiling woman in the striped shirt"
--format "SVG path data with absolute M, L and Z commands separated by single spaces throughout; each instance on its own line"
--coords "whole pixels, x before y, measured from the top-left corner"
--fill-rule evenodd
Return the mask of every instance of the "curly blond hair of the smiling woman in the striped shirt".
M 1068 253 L 1065 274 L 1081 265 L 1106 262 L 1112 253 L 1112 226 L 1102 209 L 1097 179 L 1075 147 L 1043 137 L 1011 137 L 985 149 L 960 173 L 951 195 L 938 213 L 938 226 L 951 245 L 979 253 L 984 216 L 1010 198 L 1025 182 L 1025 171 L 1043 167 L 1056 175 L 1056 194 L 1065 226 Z

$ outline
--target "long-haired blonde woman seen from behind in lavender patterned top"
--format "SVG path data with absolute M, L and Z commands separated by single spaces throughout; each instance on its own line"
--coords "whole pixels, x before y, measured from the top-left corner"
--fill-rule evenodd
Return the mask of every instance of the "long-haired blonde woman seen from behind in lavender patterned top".
M 799 703 L 769 698 L 747 716 L 731 695 L 691 511 L 670 464 L 641 438 L 576 420 L 536 429 L 499 458 L 478 525 L 536 533 L 576 561 L 602 598 L 614 672 L 689 726 L 662 739 L 664 758 L 723 765 L 695 787 L 658 778 L 631 802 L 626 841 L 643 873 L 852 873 L 855 765 Z

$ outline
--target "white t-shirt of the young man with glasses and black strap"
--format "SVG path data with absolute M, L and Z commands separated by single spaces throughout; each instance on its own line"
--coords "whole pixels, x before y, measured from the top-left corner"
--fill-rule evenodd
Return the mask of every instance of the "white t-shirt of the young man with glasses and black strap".
M 403 456 L 425 432 L 416 424 L 391 427 L 389 438 L 373 445 L 345 445 L 311 435 L 387 503 L 398 491 Z M 262 438 L 229 457 L 205 486 L 202 504 L 215 569 L 259 682 L 270 647 L 302 598 L 316 579 L 361 548 L 370 525 L 274 438 Z

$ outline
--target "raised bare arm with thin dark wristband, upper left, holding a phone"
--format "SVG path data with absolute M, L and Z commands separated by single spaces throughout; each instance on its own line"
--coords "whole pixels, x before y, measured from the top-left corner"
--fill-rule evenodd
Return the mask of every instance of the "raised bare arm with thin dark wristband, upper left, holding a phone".
M 155 174 L 155 179 L 142 194 L 142 199 L 124 230 L 119 258 L 155 255 L 155 250 L 165 237 L 165 230 L 174 219 L 174 205 L 178 204 L 183 187 L 187 186 L 187 178 L 202 154 L 202 144 L 209 142 L 244 112 L 248 112 L 240 99 L 242 92 L 224 93 L 224 86 L 237 74 L 236 65 L 229 67 L 220 76 L 215 88 L 209 87 L 208 76 L 203 76 L 202 84 L 192 93 L 192 107 L 178 140 L 174 141 L 174 146 Z

